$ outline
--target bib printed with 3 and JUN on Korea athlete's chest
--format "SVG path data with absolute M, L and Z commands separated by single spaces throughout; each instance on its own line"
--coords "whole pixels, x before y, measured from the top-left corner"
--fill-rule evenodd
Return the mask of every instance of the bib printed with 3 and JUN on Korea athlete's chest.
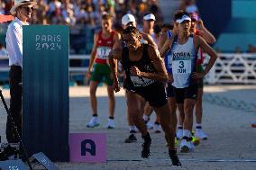
M 173 74 L 190 74 L 191 60 L 174 60 L 172 63 Z

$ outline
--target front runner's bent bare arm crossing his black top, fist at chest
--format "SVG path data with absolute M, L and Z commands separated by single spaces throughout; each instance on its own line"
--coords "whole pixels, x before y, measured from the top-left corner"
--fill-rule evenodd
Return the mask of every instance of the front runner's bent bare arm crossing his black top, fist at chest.
M 168 81 L 168 74 L 165 69 L 163 60 L 162 58 L 160 58 L 159 50 L 155 49 L 152 46 L 149 46 L 148 54 L 149 54 L 149 57 L 151 58 L 152 64 L 155 67 L 157 73 L 141 72 L 138 67 L 132 67 L 131 73 L 135 76 L 142 76 L 145 78 L 149 78 L 149 79 L 157 80 L 161 82 Z

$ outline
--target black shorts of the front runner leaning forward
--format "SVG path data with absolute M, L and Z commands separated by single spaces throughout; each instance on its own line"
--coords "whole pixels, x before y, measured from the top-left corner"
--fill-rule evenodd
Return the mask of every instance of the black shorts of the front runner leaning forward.
M 127 88 L 127 90 L 129 90 L 129 88 Z M 151 85 L 136 87 L 131 91 L 141 95 L 153 107 L 160 107 L 167 103 L 165 86 L 163 83 L 155 82 Z

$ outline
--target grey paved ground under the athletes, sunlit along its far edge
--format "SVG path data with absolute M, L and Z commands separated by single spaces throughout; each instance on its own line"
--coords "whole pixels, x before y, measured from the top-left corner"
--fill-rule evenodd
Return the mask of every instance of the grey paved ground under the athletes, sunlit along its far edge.
M 256 85 L 215 85 L 206 86 L 206 96 L 228 100 L 256 103 Z M 8 91 L 4 91 L 9 104 Z M 104 132 L 107 135 L 107 162 L 103 164 L 87 163 L 57 163 L 63 170 L 124 170 L 124 169 L 192 169 L 192 170 L 255 170 L 256 169 L 256 129 L 251 128 L 251 122 L 256 121 L 256 109 L 245 112 L 242 108 L 233 109 L 204 102 L 203 128 L 209 139 L 202 141 L 194 153 L 178 153 L 182 160 L 182 167 L 173 167 L 168 158 L 163 133 L 155 134 L 151 131 L 151 157 L 140 157 L 142 139 L 137 143 L 124 144 L 128 136 L 125 121 L 125 102 L 123 92 L 116 96 L 116 129 L 106 130 L 107 98 L 106 89 L 98 89 L 98 106 L 101 126 L 87 129 L 86 123 L 90 119 L 89 98 L 87 87 L 70 87 L 70 132 Z M 0 104 L 0 134 L 5 141 L 5 110 Z

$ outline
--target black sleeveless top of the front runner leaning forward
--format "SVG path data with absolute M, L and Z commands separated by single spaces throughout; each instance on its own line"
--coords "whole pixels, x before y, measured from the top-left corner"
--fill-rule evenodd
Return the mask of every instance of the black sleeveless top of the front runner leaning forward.
M 135 66 L 138 67 L 142 72 L 156 73 L 156 69 L 155 67 L 153 67 L 151 58 L 148 54 L 149 45 L 142 44 L 142 47 L 142 58 L 138 61 L 131 61 L 129 58 L 129 49 L 127 47 L 123 47 L 121 63 L 126 74 L 126 85 L 128 90 L 136 90 L 140 89 L 143 86 L 148 86 L 156 83 L 155 80 L 151 80 L 149 78 L 133 76 L 130 72 L 130 68 Z

